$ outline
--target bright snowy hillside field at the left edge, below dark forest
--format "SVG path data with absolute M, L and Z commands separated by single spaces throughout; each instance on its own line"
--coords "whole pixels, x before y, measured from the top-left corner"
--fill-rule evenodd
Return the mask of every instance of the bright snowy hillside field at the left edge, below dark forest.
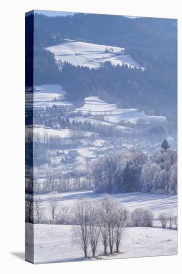
M 33 102 L 32 102 L 33 99 Z M 26 105 L 34 107 L 72 106 L 66 100 L 66 91 L 61 85 L 41 85 L 34 87 L 33 98 L 31 93 L 26 93 Z

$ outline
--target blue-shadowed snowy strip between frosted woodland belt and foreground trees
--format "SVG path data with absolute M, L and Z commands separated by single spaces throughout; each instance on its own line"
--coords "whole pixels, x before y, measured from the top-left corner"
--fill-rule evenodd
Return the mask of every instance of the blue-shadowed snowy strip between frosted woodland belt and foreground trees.
M 83 151 L 84 153 L 84 151 Z M 174 210 L 177 214 L 177 195 L 159 195 L 159 194 L 147 194 L 142 192 L 131 192 L 131 193 L 113 193 L 110 194 L 112 197 L 120 201 L 125 208 L 130 211 L 138 207 L 151 209 L 155 222 L 154 225 L 160 226 L 158 216 L 161 213 L 167 213 L 170 209 Z M 92 201 L 99 202 L 102 194 L 95 193 L 94 191 L 70 191 L 62 193 L 49 193 L 49 194 L 34 194 L 34 198 L 39 197 L 45 207 L 45 216 L 50 217 L 50 212 L 47 208 L 47 201 L 51 197 L 56 197 L 59 201 L 59 206 L 71 207 L 78 199 L 91 199 Z M 26 194 L 28 198 L 28 194 Z

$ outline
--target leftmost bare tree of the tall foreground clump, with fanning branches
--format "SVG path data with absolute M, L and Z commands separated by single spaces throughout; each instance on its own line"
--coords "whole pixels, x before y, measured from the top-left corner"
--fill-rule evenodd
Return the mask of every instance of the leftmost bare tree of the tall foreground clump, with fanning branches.
M 80 246 L 87 258 L 89 244 L 89 202 L 88 200 L 78 201 L 75 205 L 75 223 L 73 241 Z

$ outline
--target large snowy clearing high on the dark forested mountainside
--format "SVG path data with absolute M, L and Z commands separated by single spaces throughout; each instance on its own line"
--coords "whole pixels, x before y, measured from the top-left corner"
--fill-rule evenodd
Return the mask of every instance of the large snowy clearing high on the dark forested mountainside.
M 106 47 L 108 50 L 112 48 L 113 52 L 105 52 Z M 137 67 L 144 70 L 144 68 L 135 62 L 130 55 L 124 55 L 124 53 L 121 52 L 124 48 L 121 47 L 73 41 L 53 45 L 46 49 L 55 54 L 57 61 L 66 61 L 76 66 L 97 68 L 100 67 L 102 63 L 110 61 L 114 66 L 117 66 L 117 64 L 122 65 L 122 63 L 124 63 L 128 67 Z

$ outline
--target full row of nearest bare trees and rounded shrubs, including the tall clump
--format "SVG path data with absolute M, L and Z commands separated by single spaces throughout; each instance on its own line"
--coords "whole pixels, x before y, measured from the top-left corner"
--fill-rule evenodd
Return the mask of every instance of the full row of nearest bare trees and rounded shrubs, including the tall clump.
M 174 209 L 161 213 L 158 219 L 162 228 L 178 230 L 178 217 Z M 119 252 L 125 227 L 153 227 L 154 214 L 146 208 L 136 208 L 130 213 L 120 202 L 107 194 L 104 194 L 96 204 L 94 201 L 84 199 L 77 201 L 72 207 L 59 205 L 58 198 L 52 195 L 47 201 L 41 200 L 39 196 L 33 199 L 27 197 L 25 220 L 37 224 L 76 225 L 74 227 L 75 243 L 79 244 L 86 253 L 90 243 L 94 256 L 98 243 L 103 245 L 105 255 L 108 248 L 112 254 L 114 244 L 116 252 Z M 83 243 L 85 243 L 84 246 Z

